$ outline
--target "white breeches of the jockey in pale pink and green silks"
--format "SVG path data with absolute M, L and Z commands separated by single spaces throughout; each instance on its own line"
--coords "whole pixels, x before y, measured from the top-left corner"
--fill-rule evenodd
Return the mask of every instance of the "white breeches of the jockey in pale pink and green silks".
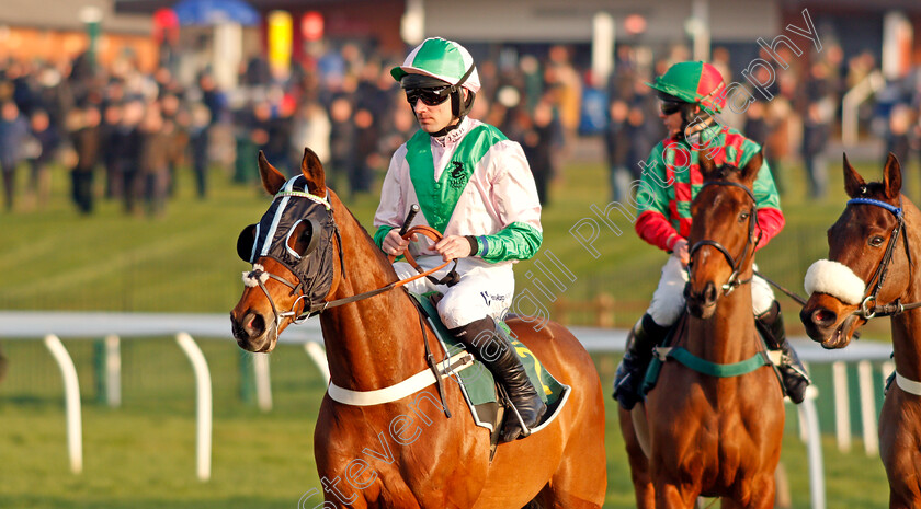
M 444 261 L 441 256 L 420 256 L 416 258 L 423 269 L 437 267 Z M 441 279 L 454 264 L 434 273 Z M 406 262 L 397 262 L 394 269 L 400 279 L 418 273 Z M 515 275 L 512 264 L 490 264 L 479 258 L 461 258 L 457 263 L 461 282 L 453 287 L 434 285 L 428 278 L 419 278 L 406 287 L 414 293 L 440 291 L 444 298 L 439 302 L 439 315 L 447 328 L 457 328 L 486 316 L 502 320 L 512 304 L 515 291 Z

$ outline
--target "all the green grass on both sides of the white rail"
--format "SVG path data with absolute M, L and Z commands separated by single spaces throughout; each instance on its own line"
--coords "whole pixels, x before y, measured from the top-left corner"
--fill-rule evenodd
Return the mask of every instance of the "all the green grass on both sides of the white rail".
M 876 165 L 857 165 L 878 178 Z M 792 167 L 787 182 L 804 182 Z M 787 228 L 759 253 L 761 269 L 801 293 L 808 265 L 826 256 L 825 230 L 843 207 L 840 171 L 832 165 L 831 195 L 815 203 L 801 186 L 791 186 L 783 205 Z M 0 309 L 227 312 L 240 293 L 236 257 L 239 231 L 255 222 L 269 204 L 255 184 L 232 185 L 219 169 L 212 172 L 213 194 L 194 198 L 187 173 L 160 217 L 124 215 L 113 201 L 100 201 L 95 213 L 78 216 L 68 198 L 68 175 L 54 170 L 50 203 L 41 210 L 22 200 L 13 213 L 0 212 Z M 632 232 L 628 219 L 611 215 L 621 233 L 604 227 L 591 209 L 604 209 L 606 175 L 600 164 L 573 164 L 552 187 L 553 203 L 543 216 L 545 242 L 576 275 L 558 300 L 585 301 L 599 293 L 614 298 L 615 325 L 626 327 L 648 303 L 664 255 Z M 371 228 L 376 196 L 346 199 Z M 596 221 L 593 256 L 570 232 Z M 518 269 L 519 291 L 536 284 Z M 539 270 L 535 270 L 539 274 Z M 536 291 L 535 291 L 535 294 Z M 801 332 L 783 298 L 791 334 Z M 572 313 L 591 323 L 591 313 Z M 887 337 L 875 324 L 864 337 Z M 281 346 L 271 357 L 275 408 L 262 414 L 239 397 L 239 365 L 248 358 L 232 342 L 202 342 L 211 365 L 214 392 L 213 478 L 194 477 L 194 382 L 187 361 L 169 338 L 126 342 L 123 348 L 124 405 L 111 409 L 96 402 L 92 342 L 69 340 L 83 395 L 84 473 L 72 475 L 66 461 L 59 373 L 37 343 L 5 342 L 11 358 L 0 384 L 0 507 L 11 508 L 293 508 L 319 483 L 312 460 L 312 424 L 323 392 L 306 355 Z M 242 356 L 242 357 L 241 357 Z M 618 359 L 595 357 L 605 385 Z M 828 398 L 826 398 L 828 400 Z M 788 407 L 788 409 L 792 407 Z M 606 508 L 633 507 L 623 442 L 612 401 L 607 410 L 609 489 Z M 805 448 L 788 413 L 782 461 L 794 507 L 809 500 Z M 878 508 L 887 487 L 878 459 L 861 452 L 837 452 L 825 437 L 829 508 Z M 857 441 L 854 451 L 861 451 Z

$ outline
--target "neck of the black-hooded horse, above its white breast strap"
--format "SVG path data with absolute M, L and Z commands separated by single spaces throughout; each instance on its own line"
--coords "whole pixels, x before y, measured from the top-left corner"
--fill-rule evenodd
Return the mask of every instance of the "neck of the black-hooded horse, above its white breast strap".
M 336 221 L 342 230 L 345 274 L 330 300 L 371 291 L 393 281 L 393 267 L 351 213 L 337 213 Z M 320 322 L 330 377 L 341 387 L 383 389 L 425 367 L 418 313 L 400 289 L 331 308 L 321 314 Z

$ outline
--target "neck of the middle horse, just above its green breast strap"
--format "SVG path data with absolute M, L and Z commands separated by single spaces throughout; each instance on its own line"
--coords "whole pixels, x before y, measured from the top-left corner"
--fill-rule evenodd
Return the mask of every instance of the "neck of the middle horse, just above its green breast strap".
M 710 362 L 739 362 L 758 351 L 755 334 L 751 284 L 747 284 L 723 296 L 709 320 L 689 317 L 685 348 Z

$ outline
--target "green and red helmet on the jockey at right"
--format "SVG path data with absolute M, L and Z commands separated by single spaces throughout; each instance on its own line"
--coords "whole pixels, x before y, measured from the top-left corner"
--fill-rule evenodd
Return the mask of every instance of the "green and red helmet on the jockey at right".
M 726 106 L 723 74 L 703 61 L 678 62 L 664 74 L 657 77 L 655 82 L 646 84 L 685 103 L 697 104 L 710 115 Z

